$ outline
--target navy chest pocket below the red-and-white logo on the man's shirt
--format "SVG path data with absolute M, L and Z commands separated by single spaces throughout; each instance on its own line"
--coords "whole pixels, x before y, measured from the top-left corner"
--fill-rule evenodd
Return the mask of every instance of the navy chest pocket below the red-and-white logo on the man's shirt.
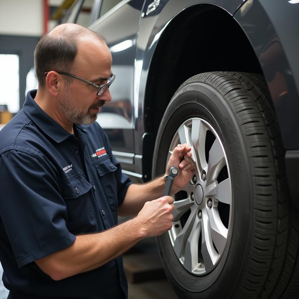
M 97 170 L 100 180 L 102 182 L 106 197 L 112 210 L 118 210 L 117 200 L 117 184 L 115 171 L 117 167 L 111 162 L 110 158 L 102 160 L 97 164 L 94 164 Z

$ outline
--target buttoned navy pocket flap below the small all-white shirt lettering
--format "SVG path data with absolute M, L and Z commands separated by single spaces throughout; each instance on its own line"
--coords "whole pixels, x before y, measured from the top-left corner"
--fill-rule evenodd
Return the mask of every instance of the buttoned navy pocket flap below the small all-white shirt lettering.
M 87 193 L 91 189 L 91 184 L 81 175 L 68 181 L 60 182 L 60 189 L 62 198 L 76 198 Z

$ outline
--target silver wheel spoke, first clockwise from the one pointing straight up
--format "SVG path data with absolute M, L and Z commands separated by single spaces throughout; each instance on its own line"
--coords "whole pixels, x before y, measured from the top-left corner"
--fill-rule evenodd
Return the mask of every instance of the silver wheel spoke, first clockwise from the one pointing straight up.
M 207 185 L 216 181 L 220 170 L 225 166 L 224 151 L 218 138 L 215 139 L 210 152 L 207 172 Z

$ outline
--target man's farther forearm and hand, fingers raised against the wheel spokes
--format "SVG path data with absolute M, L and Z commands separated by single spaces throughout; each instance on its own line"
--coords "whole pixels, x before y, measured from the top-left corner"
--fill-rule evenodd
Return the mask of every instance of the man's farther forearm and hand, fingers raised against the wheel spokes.
M 188 144 L 178 144 L 173 150 L 167 164 L 167 173 L 170 167 L 176 167 L 179 174 L 173 182 L 170 195 L 175 194 L 183 188 L 193 176 L 193 162 L 191 147 Z M 187 159 L 184 156 L 187 155 Z M 119 216 L 136 215 L 144 203 L 160 197 L 165 188 L 164 176 L 152 180 L 146 184 L 131 184 L 126 192 L 123 203 L 118 208 Z

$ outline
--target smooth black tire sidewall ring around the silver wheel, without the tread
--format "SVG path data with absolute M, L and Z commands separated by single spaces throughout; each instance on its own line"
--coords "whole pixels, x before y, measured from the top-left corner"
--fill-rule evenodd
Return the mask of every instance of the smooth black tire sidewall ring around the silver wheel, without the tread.
M 168 232 L 158 237 L 158 247 L 167 277 L 178 295 L 193 298 L 194 292 L 200 292 L 201 298 L 218 298 L 220 294 L 221 298 L 228 298 L 242 276 L 250 246 L 252 184 L 245 141 L 234 113 L 222 94 L 202 82 L 186 83 L 176 92 L 158 130 L 152 169 L 154 176 L 164 173 L 173 136 L 184 121 L 195 117 L 210 123 L 222 142 L 228 160 L 232 207 L 227 244 L 216 268 L 202 277 L 184 269 L 173 251 Z

